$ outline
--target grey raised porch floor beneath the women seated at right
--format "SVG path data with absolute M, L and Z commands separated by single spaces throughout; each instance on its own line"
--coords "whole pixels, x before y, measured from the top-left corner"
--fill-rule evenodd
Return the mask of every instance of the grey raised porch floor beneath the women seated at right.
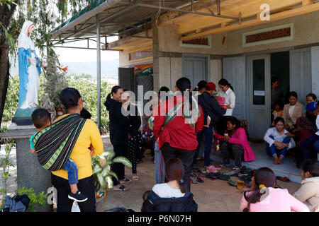
M 296 167 L 293 162 L 293 158 L 286 157 L 283 165 L 272 164 L 273 159 L 271 156 L 266 155 L 265 143 L 251 143 L 250 147 L 254 151 L 256 159 L 252 162 L 242 162 L 242 165 L 252 169 L 258 169 L 259 167 L 269 167 L 274 170 L 275 174 L 280 177 L 288 177 L 291 181 L 301 183 L 301 170 Z M 212 160 L 222 162 L 220 152 L 213 152 L 211 155 Z M 234 160 L 230 160 L 232 165 L 235 164 Z

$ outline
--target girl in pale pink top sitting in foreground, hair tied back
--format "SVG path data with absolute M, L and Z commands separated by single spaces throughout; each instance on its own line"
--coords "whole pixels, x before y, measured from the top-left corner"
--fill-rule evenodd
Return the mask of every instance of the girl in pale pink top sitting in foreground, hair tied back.
M 309 212 L 308 207 L 289 194 L 287 189 L 274 189 L 276 175 L 267 167 L 256 170 L 251 191 L 240 201 L 242 212 Z

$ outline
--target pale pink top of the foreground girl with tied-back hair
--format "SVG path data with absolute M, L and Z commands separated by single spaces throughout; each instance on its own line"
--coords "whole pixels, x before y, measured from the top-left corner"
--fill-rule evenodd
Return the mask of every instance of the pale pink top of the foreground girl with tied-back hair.
M 262 201 L 250 203 L 250 212 L 309 212 L 309 208 L 289 194 L 287 189 L 268 188 L 269 195 Z M 247 208 L 248 202 L 242 194 L 240 211 Z

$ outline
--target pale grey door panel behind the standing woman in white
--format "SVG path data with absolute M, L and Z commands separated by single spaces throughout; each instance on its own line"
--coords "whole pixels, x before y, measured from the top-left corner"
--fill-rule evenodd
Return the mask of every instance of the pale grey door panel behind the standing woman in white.
M 247 119 L 247 78 L 245 70 L 245 57 L 224 57 L 223 78 L 225 78 L 234 88 L 236 102 L 235 109 L 233 109 L 233 117 L 236 117 L 239 120 Z

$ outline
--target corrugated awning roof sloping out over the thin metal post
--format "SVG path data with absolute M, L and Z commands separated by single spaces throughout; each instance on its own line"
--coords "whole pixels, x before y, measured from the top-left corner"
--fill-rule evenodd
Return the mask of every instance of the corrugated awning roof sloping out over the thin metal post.
M 163 1 L 162 1 L 163 2 Z M 96 0 L 89 7 L 69 18 L 65 23 L 55 28 L 53 37 L 61 39 L 70 37 L 89 37 L 96 35 L 96 16 L 99 15 L 100 32 L 103 35 L 117 35 L 130 28 L 139 27 L 150 22 L 150 18 L 159 11 L 156 8 L 146 8 L 138 4 L 154 4 L 154 0 Z M 189 0 L 165 0 L 167 7 L 179 7 L 189 3 Z M 167 11 L 161 10 L 161 14 Z

